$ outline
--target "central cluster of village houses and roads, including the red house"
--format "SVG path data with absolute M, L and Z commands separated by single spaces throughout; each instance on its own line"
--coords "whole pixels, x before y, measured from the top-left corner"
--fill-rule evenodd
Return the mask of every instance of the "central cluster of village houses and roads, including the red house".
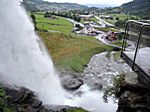
M 113 24 L 104 20 L 113 19 L 111 16 L 80 15 L 80 18 L 81 21 L 84 21 L 83 23 L 72 21 L 74 23 L 72 31 L 76 34 L 100 36 L 100 38 L 112 42 L 116 41 L 118 39 L 118 35 L 123 33 L 119 29 L 116 29 Z M 92 20 L 93 18 L 94 20 Z M 105 31 L 105 29 L 109 29 L 109 31 Z

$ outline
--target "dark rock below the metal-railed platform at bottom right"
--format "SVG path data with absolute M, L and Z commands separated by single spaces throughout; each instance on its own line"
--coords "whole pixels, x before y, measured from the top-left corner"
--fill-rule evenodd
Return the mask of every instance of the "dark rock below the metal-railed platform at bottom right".
M 126 91 L 119 98 L 118 104 L 118 112 L 150 112 L 150 96 L 147 93 L 139 95 Z

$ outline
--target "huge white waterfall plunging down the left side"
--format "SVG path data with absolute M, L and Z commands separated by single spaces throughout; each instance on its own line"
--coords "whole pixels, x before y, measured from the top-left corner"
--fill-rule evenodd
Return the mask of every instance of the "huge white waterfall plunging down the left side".
M 19 0 L 0 0 L 0 81 L 35 91 L 45 104 L 63 104 L 64 91 Z

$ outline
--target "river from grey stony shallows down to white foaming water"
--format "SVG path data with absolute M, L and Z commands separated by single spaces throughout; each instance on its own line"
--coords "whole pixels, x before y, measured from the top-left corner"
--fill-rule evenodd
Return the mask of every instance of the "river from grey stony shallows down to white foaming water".
M 65 105 L 82 107 L 90 112 L 116 112 L 117 103 L 112 98 L 105 103 L 104 88 L 112 85 L 113 78 L 130 71 L 129 66 L 120 58 L 115 58 L 116 52 L 103 52 L 94 55 L 84 72 L 81 74 L 84 85 L 66 96 Z

